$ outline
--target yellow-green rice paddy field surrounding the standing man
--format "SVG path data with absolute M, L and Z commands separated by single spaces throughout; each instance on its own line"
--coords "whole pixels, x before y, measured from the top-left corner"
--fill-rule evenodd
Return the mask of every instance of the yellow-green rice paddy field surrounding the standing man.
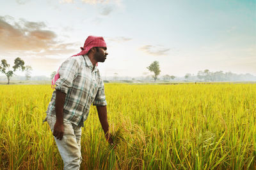
M 115 146 L 95 106 L 81 169 L 256 169 L 256 84 L 106 84 Z M 51 85 L 0 85 L 0 169 L 62 169 L 47 123 Z

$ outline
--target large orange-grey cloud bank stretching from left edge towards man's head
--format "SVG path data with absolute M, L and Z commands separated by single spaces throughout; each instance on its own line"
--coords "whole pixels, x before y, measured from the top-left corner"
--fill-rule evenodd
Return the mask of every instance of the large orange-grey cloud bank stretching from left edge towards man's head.
M 10 16 L 0 17 L 0 51 L 1 53 L 24 53 L 33 55 L 60 55 L 74 52 L 76 43 L 61 43 L 57 34 L 45 29 L 44 22 L 12 20 Z

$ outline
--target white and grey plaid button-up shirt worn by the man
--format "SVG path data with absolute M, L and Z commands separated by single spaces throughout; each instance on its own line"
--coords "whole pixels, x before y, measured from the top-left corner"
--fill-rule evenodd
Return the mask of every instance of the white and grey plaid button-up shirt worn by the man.
M 61 64 L 60 78 L 56 81 L 56 90 L 66 94 L 63 118 L 76 125 L 83 125 L 88 117 L 90 106 L 106 106 L 104 83 L 97 66 L 94 67 L 87 55 L 70 57 Z M 47 108 L 47 115 L 55 113 L 56 90 Z

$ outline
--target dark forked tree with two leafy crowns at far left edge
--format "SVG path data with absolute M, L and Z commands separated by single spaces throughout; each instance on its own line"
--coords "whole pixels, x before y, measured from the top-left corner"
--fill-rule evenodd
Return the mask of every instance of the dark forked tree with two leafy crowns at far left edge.
M 13 66 L 13 70 L 10 70 L 10 64 L 7 63 L 7 61 L 5 59 L 1 60 L 1 64 L 0 64 L 0 71 L 5 74 L 7 76 L 7 80 L 8 83 L 10 83 L 10 79 L 13 76 L 14 72 L 19 69 L 21 71 L 24 71 L 25 67 L 24 67 L 24 60 L 20 59 L 20 57 L 17 57 L 14 60 L 14 66 Z M 7 71 L 8 70 L 8 71 Z

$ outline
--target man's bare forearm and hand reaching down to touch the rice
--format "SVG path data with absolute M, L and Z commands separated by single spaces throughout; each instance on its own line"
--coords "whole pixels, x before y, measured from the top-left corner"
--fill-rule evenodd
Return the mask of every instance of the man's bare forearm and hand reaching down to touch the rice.
M 109 133 L 107 106 L 96 106 L 96 108 L 98 111 L 100 124 L 105 134 L 105 138 L 109 144 L 113 145 L 113 139 L 110 137 Z

